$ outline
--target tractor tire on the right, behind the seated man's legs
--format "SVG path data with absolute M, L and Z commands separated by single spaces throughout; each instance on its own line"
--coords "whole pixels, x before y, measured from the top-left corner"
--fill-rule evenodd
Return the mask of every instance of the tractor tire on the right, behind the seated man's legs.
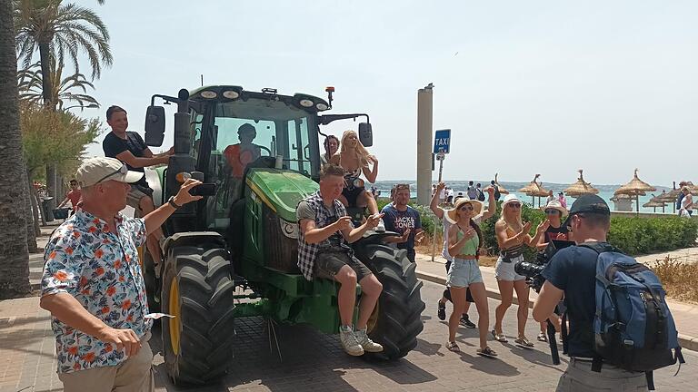
M 357 254 L 359 259 L 367 261 L 366 266 L 383 284 L 383 292 L 368 322 L 368 336 L 384 349 L 366 356 L 403 358 L 417 346 L 417 336 L 424 329 L 422 311 L 425 306 L 416 264 L 407 259 L 406 250 L 394 250 L 385 245 L 366 245 L 360 253 Z

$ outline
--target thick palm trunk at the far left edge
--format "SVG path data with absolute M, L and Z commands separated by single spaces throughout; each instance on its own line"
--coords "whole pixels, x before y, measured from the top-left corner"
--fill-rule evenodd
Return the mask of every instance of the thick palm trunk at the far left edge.
M 27 248 L 27 193 L 22 136 L 19 132 L 17 57 L 12 2 L 0 0 L 0 299 L 30 291 Z

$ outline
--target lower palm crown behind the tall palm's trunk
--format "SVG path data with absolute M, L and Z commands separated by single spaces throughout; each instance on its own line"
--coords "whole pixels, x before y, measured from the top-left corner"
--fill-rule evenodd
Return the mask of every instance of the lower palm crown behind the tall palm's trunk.
M 92 95 L 87 94 L 87 87 L 95 89 L 95 85 L 90 83 L 82 73 L 72 74 L 64 79 L 61 79 L 63 73 L 63 64 L 58 64 L 55 67 L 55 62 L 51 64 L 51 101 L 56 103 L 58 110 L 63 110 L 64 104 L 67 101 L 78 103 L 81 108 L 90 107 L 98 108 L 99 103 Z M 42 86 L 44 83 L 41 64 L 32 64 L 28 69 L 24 69 L 17 73 L 17 83 L 19 87 L 19 99 L 26 100 L 30 103 L 42 103 L 44 92 Z M 71 90 L 79 90 L 81 93 L 71 93 Z

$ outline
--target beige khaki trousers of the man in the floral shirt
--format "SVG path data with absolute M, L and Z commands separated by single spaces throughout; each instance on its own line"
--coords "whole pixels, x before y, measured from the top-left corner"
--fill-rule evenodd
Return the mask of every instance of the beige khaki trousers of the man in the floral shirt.
M 118 366 L 59 373 L 64 392 L 154 392 L 153 351 L 145 338 L 149 332 L 138 354 Z

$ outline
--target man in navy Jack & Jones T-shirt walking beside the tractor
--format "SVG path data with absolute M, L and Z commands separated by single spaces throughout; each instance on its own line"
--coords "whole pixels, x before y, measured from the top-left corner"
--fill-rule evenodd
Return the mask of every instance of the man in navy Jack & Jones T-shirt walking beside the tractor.
M 414 262 L 414 242 L 419 242 L 424 237 L 422 220 L 419 212 L 407 205 L 410 201 L 410 186 L 407 184 L 395 185 L 394 201 L 387 204 L 382 213 L 385 222 L 385 230 L 400 233 L 400 237 L 388 237 L 386 242 L 394 242 L 397 249 L 407 250 L 407 258 Z

